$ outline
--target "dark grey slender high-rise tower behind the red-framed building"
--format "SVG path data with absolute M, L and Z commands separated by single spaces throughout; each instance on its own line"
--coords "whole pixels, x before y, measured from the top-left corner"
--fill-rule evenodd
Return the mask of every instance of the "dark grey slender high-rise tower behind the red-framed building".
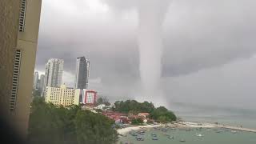
M 75 89 L 87 89 L 90 71 L 90 62 L 85 57 L 78 57 L 76 62 L 76 74 L 74 79 Z

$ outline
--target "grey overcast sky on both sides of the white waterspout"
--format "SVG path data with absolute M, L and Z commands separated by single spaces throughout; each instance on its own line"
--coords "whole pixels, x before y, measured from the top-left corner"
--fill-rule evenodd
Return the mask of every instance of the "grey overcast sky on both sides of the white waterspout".
M 141 97 L 138 0 L 43 0 L 36 70 L 90 59 L 90 89 L 110 99 Z M 159 2 L 161 2 L 159 0 Z M 256 110 L 256 1 L 174 0 L 164 22 L 161 85 L 167 102 Z

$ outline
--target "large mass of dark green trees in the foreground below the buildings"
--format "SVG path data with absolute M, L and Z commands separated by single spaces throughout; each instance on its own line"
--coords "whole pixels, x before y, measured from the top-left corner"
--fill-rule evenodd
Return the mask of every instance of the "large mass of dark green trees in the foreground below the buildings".
M 31 104 L 29 141 L 37 144 L 100 144 L 106 143 L 105 140 L 114 143 L 118 137 L 111 127 L 113 123 L 102 114 L 81 110 L 81 106 L 54 106 L 38 97 Z

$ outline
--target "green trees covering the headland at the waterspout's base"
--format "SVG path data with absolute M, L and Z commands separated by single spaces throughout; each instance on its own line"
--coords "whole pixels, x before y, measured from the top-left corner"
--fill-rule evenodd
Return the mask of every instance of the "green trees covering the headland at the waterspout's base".
M 160 106 L 155 108 L 152 102 L 137 102 L 135 100 L 114 102 L 115 111 L 126 114 L 149 113 L 150 118 L 157 122 L 176 121 L 177 117 L 174 112 L 167 110 L 166 107 Z

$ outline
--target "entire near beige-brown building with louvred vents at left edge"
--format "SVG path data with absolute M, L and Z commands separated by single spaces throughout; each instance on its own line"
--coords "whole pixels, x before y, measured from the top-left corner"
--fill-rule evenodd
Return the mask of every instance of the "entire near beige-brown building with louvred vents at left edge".
M 0 1 L 0 94 L 3 114 L 26 138 L 42 0 Z

